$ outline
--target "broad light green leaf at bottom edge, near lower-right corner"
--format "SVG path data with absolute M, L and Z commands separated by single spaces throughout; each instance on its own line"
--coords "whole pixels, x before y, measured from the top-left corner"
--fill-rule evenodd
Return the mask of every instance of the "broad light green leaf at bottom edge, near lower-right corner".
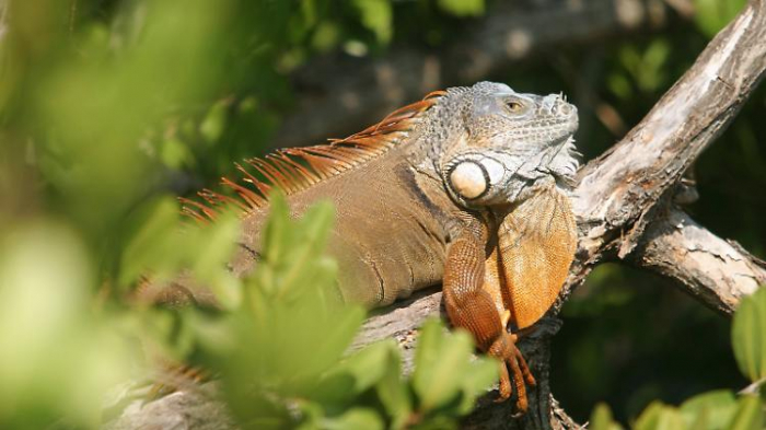
M 681 415 L 690 429 L 723 429 L 736 408 L 734 394 L 728 390 L 699 394 L 684 402 Z

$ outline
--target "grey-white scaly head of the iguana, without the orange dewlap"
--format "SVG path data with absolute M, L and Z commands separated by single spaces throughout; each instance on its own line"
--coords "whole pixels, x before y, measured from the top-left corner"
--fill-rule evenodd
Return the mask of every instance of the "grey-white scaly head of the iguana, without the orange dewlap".
M 462 206 L 513 202 L 537 179 L 566 183 L 577 170 L 577 108 L 560 94 L 522 94 L 479 82 L 448 90 L 434 111 L 445 118 L 437 168 Z

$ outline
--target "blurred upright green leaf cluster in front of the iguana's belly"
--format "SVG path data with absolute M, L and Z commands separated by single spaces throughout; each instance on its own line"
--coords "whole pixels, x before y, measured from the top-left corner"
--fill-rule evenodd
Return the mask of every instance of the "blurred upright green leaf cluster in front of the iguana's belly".
M 364 318 L 361 306 L 345 305 L 338 298 L 337 264 L 325 255 L 334 218 L 332 205 L 316 205 L 293 219 L 285 197 L 277 194 L 271 196 L 270 209 L 262 235 L 263 258 L 244 280 L 242 305 L 232 309 L 223 323 L 234 334 L 233 339 L 210 342 L 210 336 L 223 328 L 211 324 L 198 324 L 208 335 L 199 337 L 208 339 L 202 349 L 223 374 L 223 388 L 235 397 L 233 409 L 241 419 L 260 412 L 281 417 L 285 407 L 280 398 L 301 398 L 307 411 L 316 412 L 302 425 L 322 427 L 325 406 L 333 414 L 349 407 L 349 397 L 380 380 L 385 365 L 375 362 L 374 353 L 370 360 L 370 356 L 351 360 L 347 365 L 361 368 L 356 371 L 361 377 L 356 390 L 349 377 L 344 377 L 350 372 L 332 371 Z M 209 241 L 210 247 L 214 244 Z M 227 348 L 231 348 L 228 353 Z M 380 374 L 370 373 L 375 370 Z M 330 376 L 323 377 L 327 372 Z

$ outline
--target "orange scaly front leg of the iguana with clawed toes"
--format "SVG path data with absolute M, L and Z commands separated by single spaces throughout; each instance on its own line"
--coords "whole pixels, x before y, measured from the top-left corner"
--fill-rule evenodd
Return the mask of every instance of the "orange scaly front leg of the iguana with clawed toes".
M 446 313 L 454 326 L 471 332 L 479 349 L 501 360 L 501 399 L 512 394 L 510 368 L 517 407 L 523 412 L 527 407 L 525 383 L 535 385 L 535 380 L 515 346 L 517 336 L 506 330 L 492 297 L 483 289 L 487 241 L 487 226 L 474 220 L 448 248 L 443 281 Z

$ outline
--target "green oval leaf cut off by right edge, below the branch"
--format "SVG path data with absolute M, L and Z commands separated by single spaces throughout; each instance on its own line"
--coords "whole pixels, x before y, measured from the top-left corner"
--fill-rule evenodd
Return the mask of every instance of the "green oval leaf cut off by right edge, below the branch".
M 766 289 L 742 298 L 731 327 L 734 357 L 742 373 L 755 382 L 766 377 Z

